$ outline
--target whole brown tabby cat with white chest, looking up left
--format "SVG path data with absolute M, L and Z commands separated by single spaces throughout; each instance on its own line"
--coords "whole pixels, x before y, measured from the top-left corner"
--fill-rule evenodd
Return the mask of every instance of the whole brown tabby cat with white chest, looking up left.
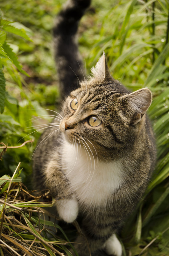
M 40 137 L 34 180 L 37 190 L 50 190 L 62 220 L 82 216 L 88 242 L 77 237 L 79 256 L 121 256 L 116 233 L 142 198 L 156 162 L 146 114 L 152 95 L 146 88 L 130 92 L 113 79 L 104 53 L 93 76 L 84 79 L 76 34 L 89 5 L 90 0 L 69 0 L 53 28 L 64 101 Z

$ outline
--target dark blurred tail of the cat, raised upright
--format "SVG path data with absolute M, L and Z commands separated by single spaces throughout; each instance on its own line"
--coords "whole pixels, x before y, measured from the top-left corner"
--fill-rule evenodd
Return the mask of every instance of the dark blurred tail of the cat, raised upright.
M 55 61 L 63 99 L 84 80 L 81 56 L 78 51 L 78 23 L 91 0 L 68 0 L 58 14 L 53 28 Z

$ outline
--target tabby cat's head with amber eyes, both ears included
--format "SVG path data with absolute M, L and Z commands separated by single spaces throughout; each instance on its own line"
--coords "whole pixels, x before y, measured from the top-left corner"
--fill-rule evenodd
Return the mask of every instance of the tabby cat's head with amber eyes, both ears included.
M 145 132 L 144 114 L 151 105 L 151 91 L 131 93 L 113 79 L 104 53 L 92 73 L 89 81 L 81 82 L 66 98 L 60 129 L 69 143 L 81 144 L 95 156 L 97 152 L 99 159 L 115 160 Z

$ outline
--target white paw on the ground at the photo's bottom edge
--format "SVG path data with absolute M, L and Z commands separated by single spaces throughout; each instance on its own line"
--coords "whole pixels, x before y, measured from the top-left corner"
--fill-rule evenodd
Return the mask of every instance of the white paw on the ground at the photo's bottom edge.
M 117 239 L 116 235 L 113 234 L 104 244 L 104 249 L 108 255 L 114 254 L 116 256 L 122 255 L 122 245 Z

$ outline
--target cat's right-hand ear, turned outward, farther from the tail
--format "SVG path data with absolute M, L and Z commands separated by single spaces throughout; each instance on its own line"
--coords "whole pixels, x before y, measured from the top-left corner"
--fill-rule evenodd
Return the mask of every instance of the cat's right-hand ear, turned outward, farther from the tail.
M 124 95 L 120 99 L 125 116 L 130 118 L 132 124 L 137 124 L 151 105 L 152 94 L 149 89 L 144 88 Z

